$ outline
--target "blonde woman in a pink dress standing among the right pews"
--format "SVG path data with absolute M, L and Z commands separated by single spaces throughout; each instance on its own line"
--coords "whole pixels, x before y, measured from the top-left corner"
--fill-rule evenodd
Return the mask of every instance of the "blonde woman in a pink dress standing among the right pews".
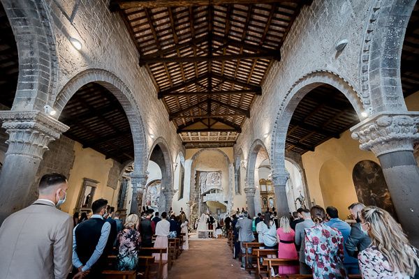
M 290 227 L 290 221 L 287 217 L 282 216 L 279 221 L 279 229 L 277 229 L 278 239 L 278 258 L 279 259 L 298 259 L 297 250 L 295 249 L 295 232 Z M 299 266 L 279 266 L 279 274 L 298 274 Z

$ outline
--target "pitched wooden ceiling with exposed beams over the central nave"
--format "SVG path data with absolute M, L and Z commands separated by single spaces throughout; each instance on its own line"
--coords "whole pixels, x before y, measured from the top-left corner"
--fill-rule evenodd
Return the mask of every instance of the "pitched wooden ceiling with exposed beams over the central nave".
M 168 120 L 194 146 L 237 140 L 267 70 L 309 2 L 111 1 L 110 8 L 126 22 Z

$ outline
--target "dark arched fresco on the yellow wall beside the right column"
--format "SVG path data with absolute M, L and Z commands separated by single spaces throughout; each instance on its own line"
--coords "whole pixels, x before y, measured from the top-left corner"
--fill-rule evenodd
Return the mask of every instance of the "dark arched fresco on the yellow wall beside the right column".
M 380 165 L 372 160 L 362 160 L 353 167 L 352 179 L 362 204 L 381 207 L 397 218 Z

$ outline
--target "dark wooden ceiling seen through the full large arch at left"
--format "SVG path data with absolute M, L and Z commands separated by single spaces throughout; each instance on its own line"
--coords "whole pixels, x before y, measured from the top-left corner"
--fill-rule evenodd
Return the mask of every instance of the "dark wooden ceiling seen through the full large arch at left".
M 96 83 L 80 88 L 68 101 L 59 121 L 70 126 L 64 133 L 119 163 L 134 159 L 131 128 L 115 96 Z

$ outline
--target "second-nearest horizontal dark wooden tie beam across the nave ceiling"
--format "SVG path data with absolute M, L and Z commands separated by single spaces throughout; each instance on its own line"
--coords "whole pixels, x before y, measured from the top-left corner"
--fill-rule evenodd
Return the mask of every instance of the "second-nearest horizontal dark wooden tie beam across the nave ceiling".
M 243 53 L 243 54 L 228 54 L 228 55 L 206 55 L 206 56 L 186 56 L 186 57 L 140 57 L 140 66 L 145 66 L 152 63 L 193 63 L 193 62 L 210 62 L 210 61 L 227 61 L 237 59 L 280 59 L 279 52 L 261 52 L 261 53 Z

